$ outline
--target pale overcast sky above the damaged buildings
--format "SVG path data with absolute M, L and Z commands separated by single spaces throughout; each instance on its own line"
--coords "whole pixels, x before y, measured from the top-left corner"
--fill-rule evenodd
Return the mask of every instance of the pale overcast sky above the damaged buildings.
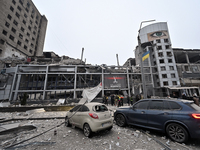
M 92 65 L 134 58 L 142 27 L 167 22 L 173 48 L 200 49 L 200 0 L 32 0 L 48 20 L 44 51 Z

